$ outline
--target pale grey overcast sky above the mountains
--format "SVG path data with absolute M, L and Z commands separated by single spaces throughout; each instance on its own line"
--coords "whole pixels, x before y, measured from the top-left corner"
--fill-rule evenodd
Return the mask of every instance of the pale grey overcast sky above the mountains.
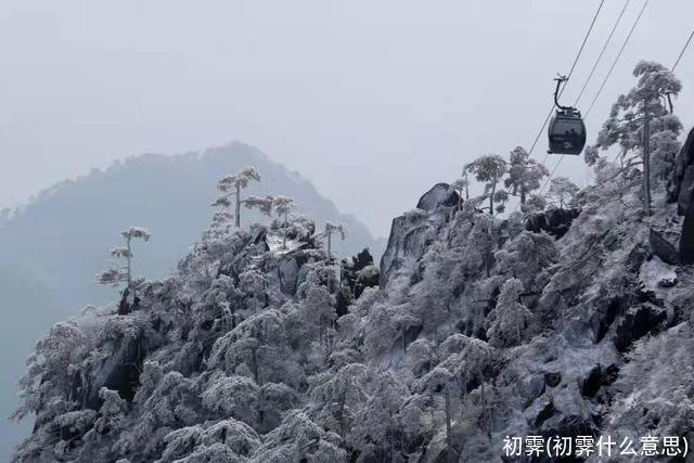
M 0 205 L 116 158 L 240 140 L 387 235 L 394 216 L 464 163 L 530 145 L 552 78 L 568 72 L 597 4 L 4 0 Z M 569 103 L 622 4 L 606 0 Z M 579 106 L 642 4 L 631 0 Z M 589 140 L 633 85 L 637 61 L 672 65 L 692 17 L 692 0 L 651 1 L 592 111 Z M 689 129 L 694 46 L 677 74 L 684 91 L 676 111 Z M 537 154 L 545 149 L 543 138 Z M 560 171 L 584 182 L 578 158 Z

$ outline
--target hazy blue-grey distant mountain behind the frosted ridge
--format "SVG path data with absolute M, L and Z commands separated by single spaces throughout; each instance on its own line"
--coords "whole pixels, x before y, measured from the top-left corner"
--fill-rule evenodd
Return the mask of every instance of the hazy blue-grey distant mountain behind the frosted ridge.
M 261 176 L 247 194 L 292 196 L 298 211 L 313 218 L 319 230 L 326 220 L 343 223 L 347 237 L 334 243 L 337 255 L 370 247 L 380 256 L 384 243 L 374 241 L 359 220 L 340 214 L 299 173 L 237 142 L 204 153 L 133 156 L 105 171 L 59 183 L 0 219 L 0 317 L 2 326 L 9 327 L 0 337 L 3 416 L 15 406 L 24 360 L 47 327 L 86 304 L 114 300 L 115 291 L 97 285 L 94 273 L 107 266 L 108 250 L 121 244 L 120 230 L 140 226 L 152 231 L 152 240 L 134 248 L 134 273 L 165 276 L 209 224 L 219 178 L 246 165 Z M 252 219 L 260 218 L 243 209 L 242 222 Z M 4 460 L 4 449 L 18 435 L 4 420 L 0 423 L 0 460 Z

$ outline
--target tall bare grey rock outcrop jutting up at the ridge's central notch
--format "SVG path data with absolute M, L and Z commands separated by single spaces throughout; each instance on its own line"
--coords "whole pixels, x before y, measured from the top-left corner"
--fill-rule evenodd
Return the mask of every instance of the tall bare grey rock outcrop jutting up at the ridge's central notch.
M 393 219 L 388 245 L 381 258 L 381 286 L 400 275 L 415 276 L 416 262 L 440 228 L 450 220 L 458 193 L 447 183 L 437 183 L 424 193 L 410 214 Z

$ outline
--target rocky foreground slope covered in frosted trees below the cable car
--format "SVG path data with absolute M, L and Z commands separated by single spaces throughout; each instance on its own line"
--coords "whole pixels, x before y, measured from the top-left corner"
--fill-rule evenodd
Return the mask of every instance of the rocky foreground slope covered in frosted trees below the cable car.
M 118 312 L 51 330 L 17 460 L 499 462 L 505 436 L 694 442 L 681 218 L 665 191 L 645 217 L 640 173 L 615 172 L 558 215 L 558 239 L 457 210 L 438 184 L 394 220 L 380 282 L 368 259 L 340 280 L 310 223 L 291 250 L 268 245 L 277 224 L 208 234 Z

